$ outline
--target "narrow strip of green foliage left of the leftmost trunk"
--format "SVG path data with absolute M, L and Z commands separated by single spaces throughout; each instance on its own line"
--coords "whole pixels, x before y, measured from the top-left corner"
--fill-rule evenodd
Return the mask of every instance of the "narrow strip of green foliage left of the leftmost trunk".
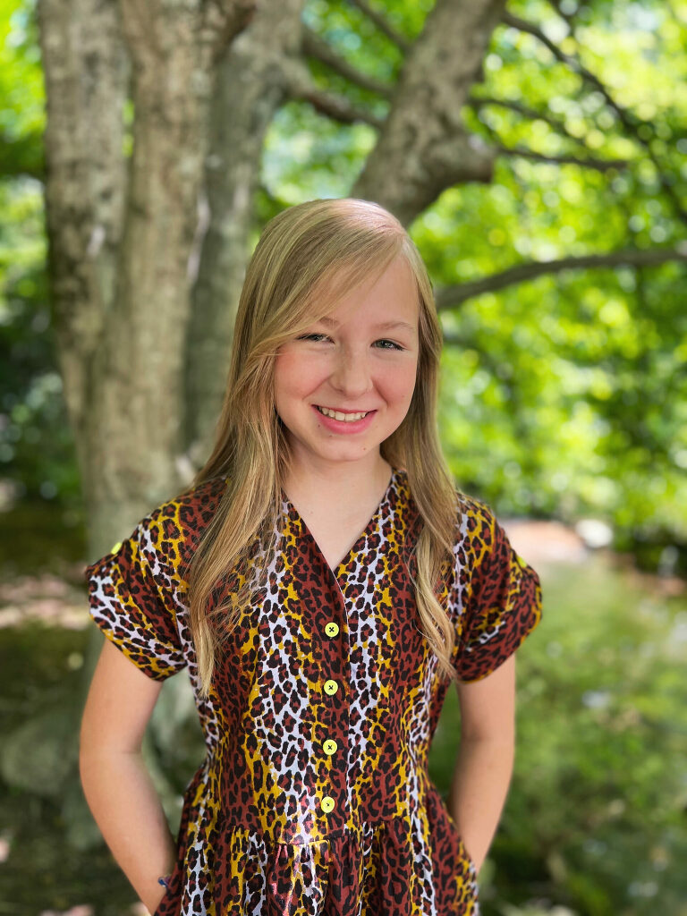
M 0 469 L 18 495 L 79 502 L 45 267 L 43 80 L 34 4 L 0 5 Z

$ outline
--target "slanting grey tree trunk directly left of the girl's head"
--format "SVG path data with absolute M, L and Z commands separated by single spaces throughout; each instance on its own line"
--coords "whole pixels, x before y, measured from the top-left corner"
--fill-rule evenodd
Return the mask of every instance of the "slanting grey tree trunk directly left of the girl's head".
M 300 49 L 303 5 L 261 5 L 217 75 L 205 161 L 207 232 L 186 344 L 185 444 L 195 467 L 211 451 L 222 407 L 263 142 L 286 95 L 285 64 Z

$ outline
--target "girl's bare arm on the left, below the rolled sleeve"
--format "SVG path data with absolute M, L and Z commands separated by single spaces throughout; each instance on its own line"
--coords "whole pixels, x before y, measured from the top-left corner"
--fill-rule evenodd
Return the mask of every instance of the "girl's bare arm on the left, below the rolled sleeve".
M 105 842 L 148 910 L 165 889 L 176 843 L 141 757 L 141 742 L 161 682 L 108 639 L 83 711 L 79 768 L 83 792 Z

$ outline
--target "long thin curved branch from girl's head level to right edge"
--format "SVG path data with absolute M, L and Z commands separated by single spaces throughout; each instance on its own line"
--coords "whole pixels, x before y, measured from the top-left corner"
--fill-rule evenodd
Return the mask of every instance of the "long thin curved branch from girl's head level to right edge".
M 437 311 L 450 309 L 462 302 L 474 299 L 485 292 L 506 289 L 525 280 L 557 274 L 563 270 L 582 270 L 595 267 L 656 267 L 669 261 L 687 261 L 687 242 L 675 248 L 637 248 L 612 251 L 605 255 L 582 255 L 562 257 L 553 261 L 527 261 L 515 267 L 508 267 L 496 274 L 490 274 L 466 283 L 440 289 L 436 295 Z

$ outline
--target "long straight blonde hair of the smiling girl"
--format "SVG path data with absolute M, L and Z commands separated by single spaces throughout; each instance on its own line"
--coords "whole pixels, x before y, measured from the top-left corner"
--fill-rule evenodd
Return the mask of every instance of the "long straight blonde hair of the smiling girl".
M 436 425 L 442 330 L 431 281 L 409 234 L 391 213 L 368 201 L 324 200 L 278 213 L 260 236 L 239 300 L 213 453 L 185 491 L 218 476 L 227 478 L 224 496 L 186 573 L 204 695 L 210 691 L 224 639 L 250 605 L 256 567 L 266 576 L 278 550 L 281 487 L 289 468 L 288 443 L 274 398 L 278 347 L 308 329 L 315 292 L 329 293 L 317 300 L 317 317 L 322 317 L 322 301 L 324 308 L 333 309 L 337 297 L 381 276 L 398 256 L 406 258 L 420 300 L 418 369 L 408 413 L 381 443 L 380 453 L 408 474 L 421 522 L 410 552 L 417 577 L 409 571 L 421 629 L 442 674 L 456 677 L 453 625 L 434 590 L 452 559 L 457 507 Z

